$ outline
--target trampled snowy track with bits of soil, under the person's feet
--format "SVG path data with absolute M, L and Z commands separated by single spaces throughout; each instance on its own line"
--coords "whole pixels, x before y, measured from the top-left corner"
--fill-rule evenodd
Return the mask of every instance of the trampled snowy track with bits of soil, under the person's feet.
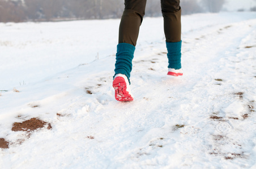
M 185 16 L 202 26 L 183 31 L 183 77 L 167 77 L 164 41 L 142 33 L 130 103 L 114 100 L 113 56 L 3 92 L 0 138 L 10 147 L 0 149 L 1 168 L 256 168 L 256 14 L 248 15 Z M 52 130 L 11 131 L 34 117 Z

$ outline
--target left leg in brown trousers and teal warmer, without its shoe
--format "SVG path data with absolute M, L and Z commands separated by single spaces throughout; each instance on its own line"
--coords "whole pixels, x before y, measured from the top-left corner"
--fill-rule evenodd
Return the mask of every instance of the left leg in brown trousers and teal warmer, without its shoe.
M 145 15 L 146 0 L 125 0 L 125 10 L 120 22 L 119 38 L 116 54 L 116 74 L 125 74 L 130 83 L 130 72 L 139 27 Z

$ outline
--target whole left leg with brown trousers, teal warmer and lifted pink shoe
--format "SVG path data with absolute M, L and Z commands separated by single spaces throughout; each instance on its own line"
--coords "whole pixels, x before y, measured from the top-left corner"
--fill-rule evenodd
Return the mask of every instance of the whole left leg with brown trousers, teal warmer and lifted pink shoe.
M 139 27 L 145 14 L 146 0 L 125 0 L 125 10 L 120 22 L 113 87 L 118 101 L 132 101 L 130 72 Z

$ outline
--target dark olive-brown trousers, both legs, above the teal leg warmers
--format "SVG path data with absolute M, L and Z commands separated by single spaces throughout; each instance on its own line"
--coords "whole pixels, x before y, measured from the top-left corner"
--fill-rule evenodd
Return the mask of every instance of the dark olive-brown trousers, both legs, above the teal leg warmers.
M 118 43 L 129 43 L 136 46 L 139 27 L 145 15 L 147 0 L 125 0 Z M 181 7 L 180 0 L 161 0 L 164 17 L 164 33 L 166 42 L 181 41 Z

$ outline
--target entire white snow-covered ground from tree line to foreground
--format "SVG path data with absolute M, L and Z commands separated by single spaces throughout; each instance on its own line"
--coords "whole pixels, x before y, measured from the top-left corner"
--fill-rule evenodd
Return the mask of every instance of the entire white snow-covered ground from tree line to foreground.
M 256 13 L 182 16 L 183 77 L 145 18 L 130 103 L 112 88 L 119 22 L 0 23 L 0 168 L 256 168 Z M 31 118 L 52 129 L 12 131 Z

